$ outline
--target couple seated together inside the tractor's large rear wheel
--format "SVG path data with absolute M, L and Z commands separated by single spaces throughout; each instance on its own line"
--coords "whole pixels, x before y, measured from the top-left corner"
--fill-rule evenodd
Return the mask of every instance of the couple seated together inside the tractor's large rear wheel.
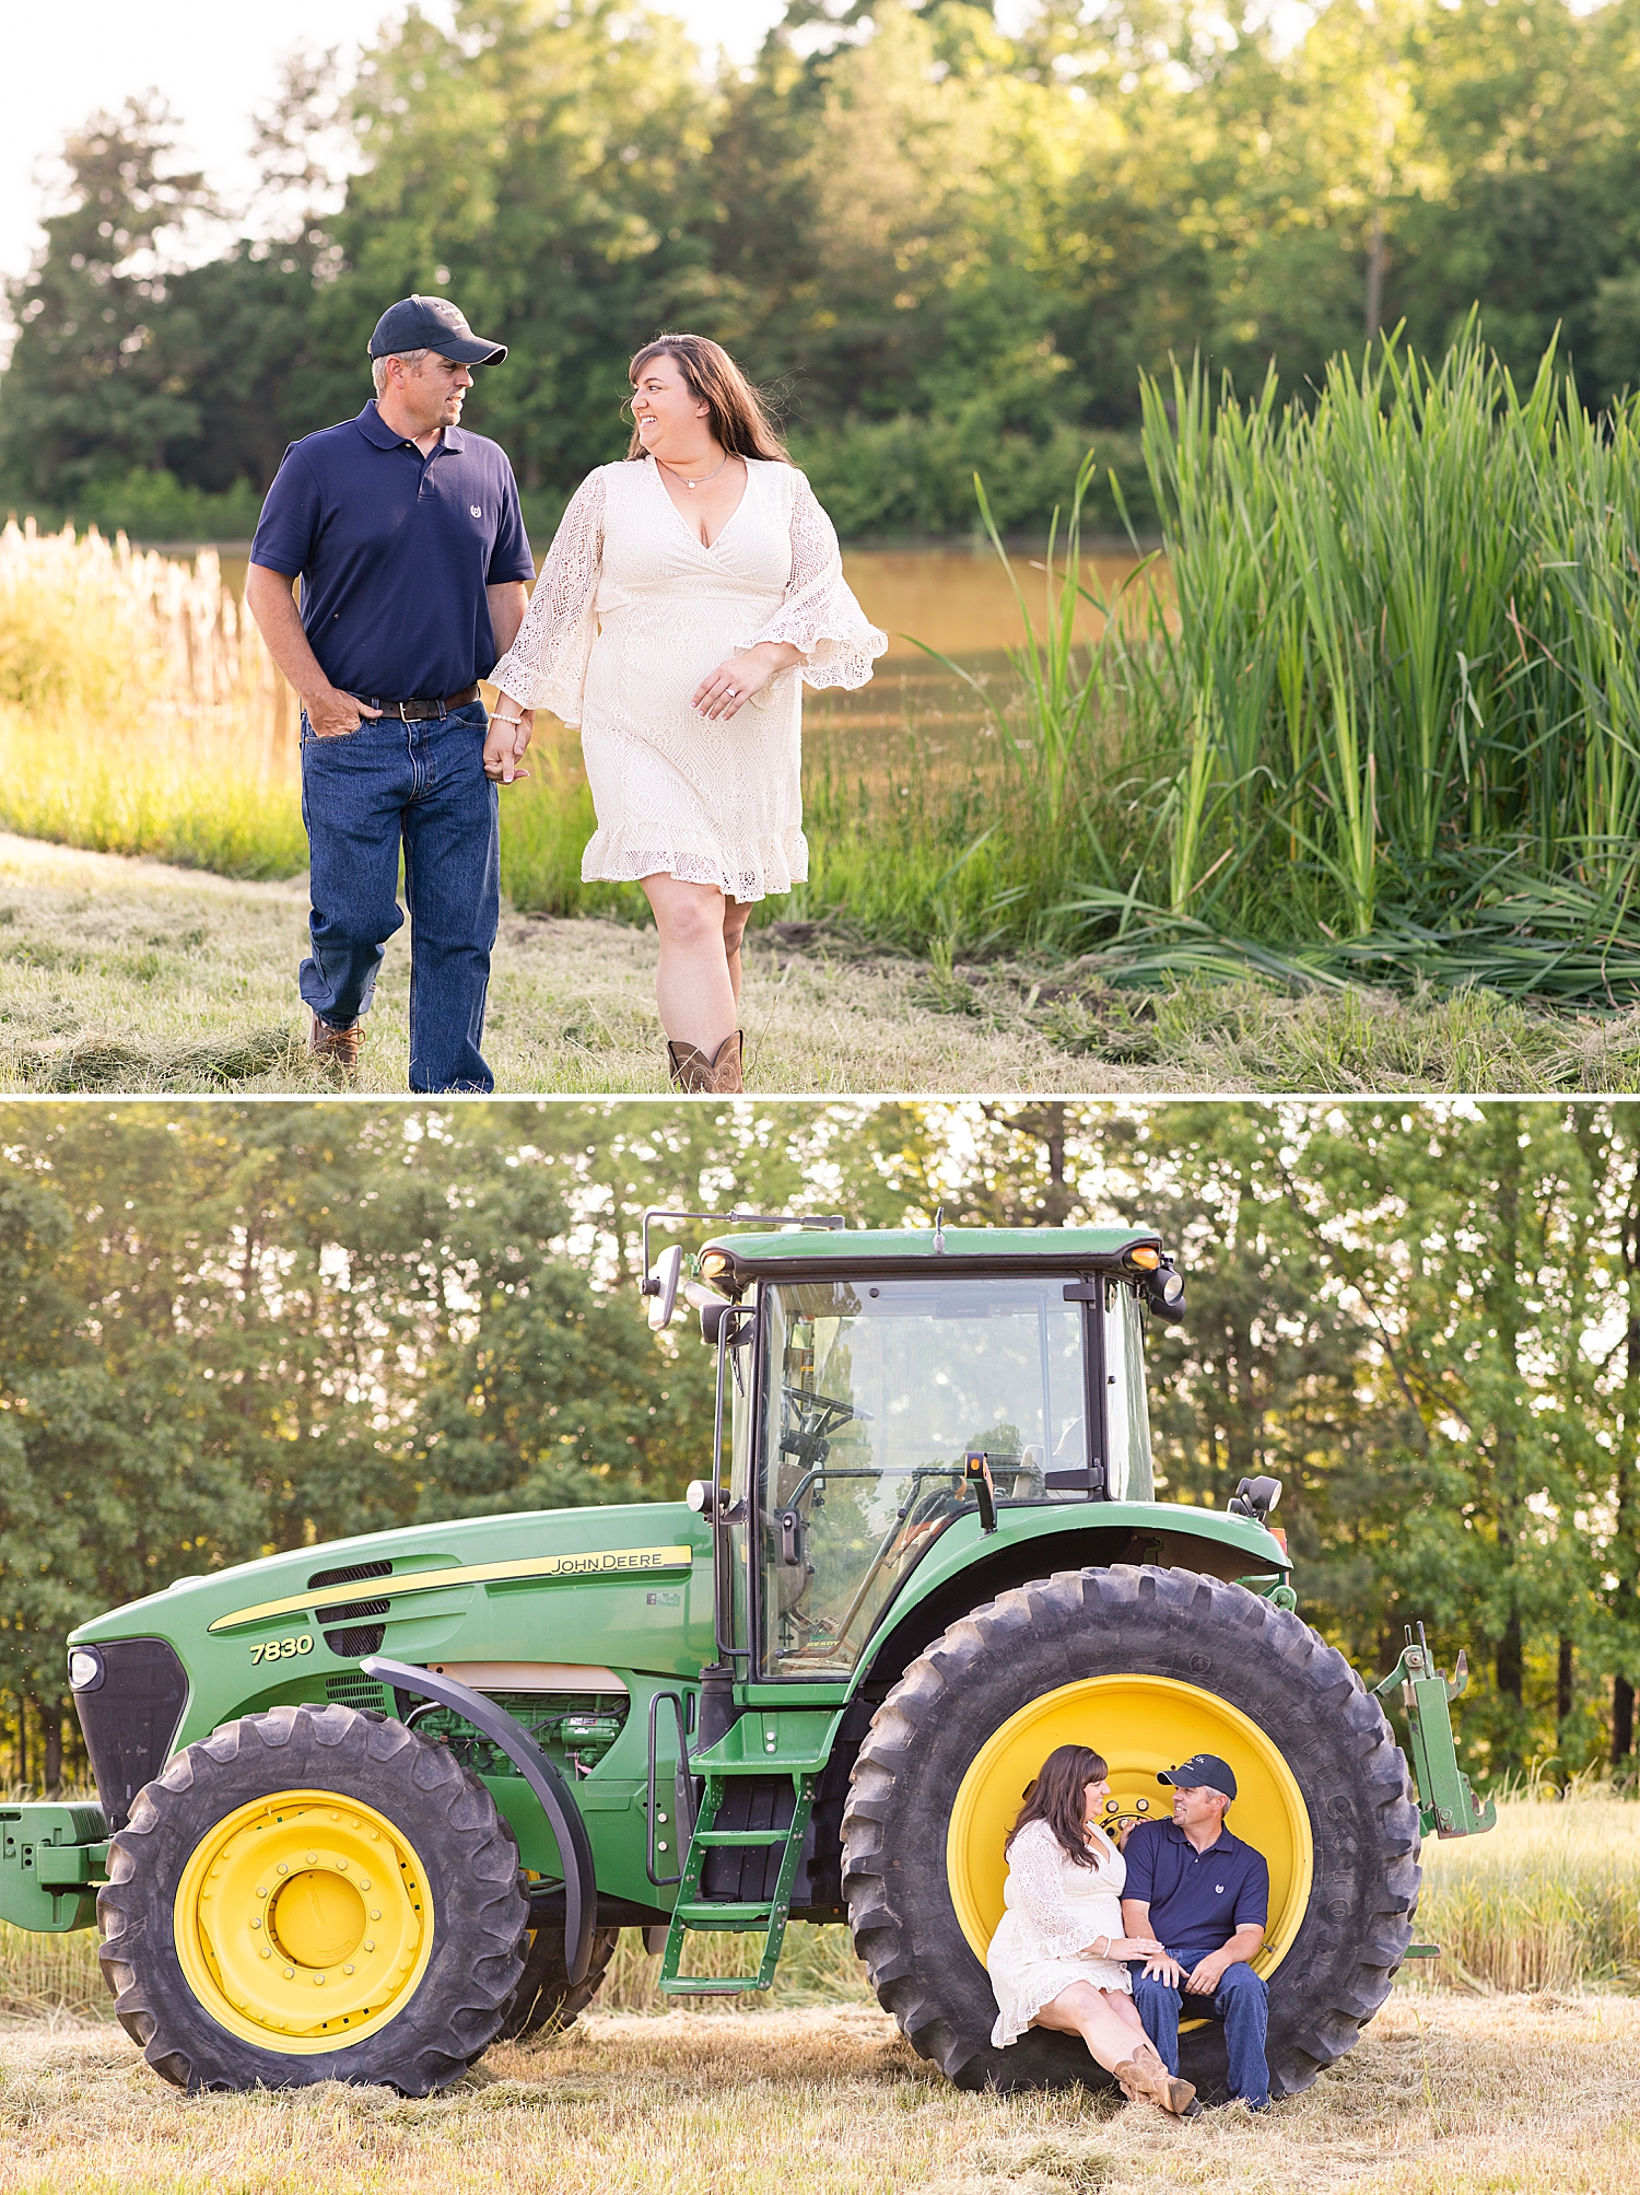
M 1025 1789 L 986 1954 L 990 2039 L 1006 2048 L 1030 2026 L 1080 2035 L 1124 2096 L 1194 2118 L 1179 2017 L 1221 2019 L 1229 2092 L 1262 2112 L 1267 1997 L 1249 1960 L 1265 1940 L 1269 1868 L 1225 1828 L 1227 1760 L 1192 1754 L 1157 1782 L 1172 1785 L 1172 1820 L 1139 1822 L 1120 1844 L 1100 1826 L 1111 1785 L 1091 1747 L 1056 1747 Z

